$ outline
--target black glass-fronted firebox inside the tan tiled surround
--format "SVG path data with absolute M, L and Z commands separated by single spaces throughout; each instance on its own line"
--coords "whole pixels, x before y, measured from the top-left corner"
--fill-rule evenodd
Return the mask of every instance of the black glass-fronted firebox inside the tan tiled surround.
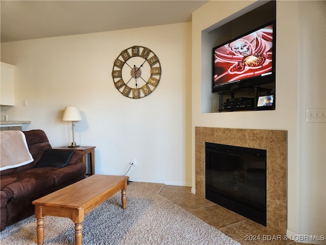
M 266 226 L 266 150 L 205 143 L 206 199 Z

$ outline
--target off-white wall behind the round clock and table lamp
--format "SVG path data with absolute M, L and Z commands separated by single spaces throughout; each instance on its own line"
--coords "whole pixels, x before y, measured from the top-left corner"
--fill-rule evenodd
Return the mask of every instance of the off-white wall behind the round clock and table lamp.
M 44 130 L 52 146 L 70 145 L 71 123 L 61 118 L 77 106 L 83 121 L 75 141 L 96 146 L 96 174 L 123 175 L 133 158 L 131 181 L 191 186 L 191 43 L 190 22 L 2 43 L 1 61 L 16 65 L 16 105 L 2 114 L 31 120 L 23 130 Z M 120 94 L 111 76 L 114 60 L 133 45 L 150 48 L 162 68 L 142 99 Z

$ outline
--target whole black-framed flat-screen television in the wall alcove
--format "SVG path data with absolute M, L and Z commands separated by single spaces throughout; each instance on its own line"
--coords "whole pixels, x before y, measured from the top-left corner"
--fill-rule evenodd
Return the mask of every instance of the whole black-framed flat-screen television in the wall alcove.
M 275 21 L 213 48 L 213 92 L 275 82 Z

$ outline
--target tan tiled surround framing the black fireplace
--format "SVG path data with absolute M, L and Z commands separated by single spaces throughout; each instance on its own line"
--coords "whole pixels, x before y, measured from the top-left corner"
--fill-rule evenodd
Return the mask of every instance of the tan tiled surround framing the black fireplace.
M 205 198 L 205 142 L 267 151 L 267 229 L 286 234 L 287 131 L 196 127 L 196 194 Z

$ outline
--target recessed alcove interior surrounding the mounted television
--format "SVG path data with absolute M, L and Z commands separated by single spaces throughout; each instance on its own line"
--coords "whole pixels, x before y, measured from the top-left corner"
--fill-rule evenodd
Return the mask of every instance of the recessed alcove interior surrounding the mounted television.
M 248 6 L 248 8 L 240 11 L 241 14 L 239 12 L 234 13 L 232 16 L 228 16 L 228 18 L 202 30 L 202 113 L 219 112 L 220 108 L 219 93 L 212 93 L 212 48 L 258 28 L 269 21 L 275 20 L 276 1 L 267 3 L 262 1 L 261 3 L 259 7 L 256 4 Z M 268 88 L 275 92 L 275 82 L 264 84 L 263 88 Z M 247 90 L 239 91 L 237 97 L 249 96 Z M 253 94 L 250 95 L 253 96 Z

